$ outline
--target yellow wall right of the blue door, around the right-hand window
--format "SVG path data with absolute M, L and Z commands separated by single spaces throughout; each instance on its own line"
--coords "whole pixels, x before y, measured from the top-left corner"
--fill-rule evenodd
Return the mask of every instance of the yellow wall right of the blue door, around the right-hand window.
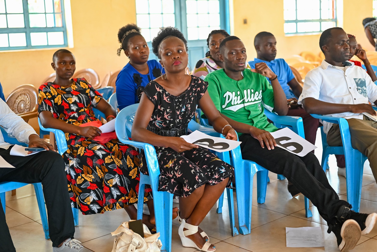
M 347 33 L 356 35 L 357 42 L 366 50 L 374 50 L 366 39 L 362 20 L 372 16 L 372 0 L 337 0 L 343 2 L 343 25 Z M 247 49 L 248 60 L 256 57 L 254 37 L 261 31 L 274 34 L 277 40 L 277 57 L 287 58 L 302 51 L 319 53 L 320 35 L 285 36 L 283 0 L 233 0 L 234 35 L 241 38 Z M 350 17 L 350 18 L 346 18 Z M 247 24 L 243 20 L 247 19 Z M 339 18 L 342 21 L 342 17 Z

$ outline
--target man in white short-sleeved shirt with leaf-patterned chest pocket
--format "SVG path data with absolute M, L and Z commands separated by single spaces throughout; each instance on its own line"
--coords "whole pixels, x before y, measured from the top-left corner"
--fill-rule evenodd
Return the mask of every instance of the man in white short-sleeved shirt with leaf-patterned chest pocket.
M 377 122 L 362 114 L 376 115 L 369 103 L 377 104 L 377 86 L 364 69 L 348 61 L 348 42 L 342 28 L 322 33 L 319 45 L 325 60 L 306 75 L 299 104 L 310 114 L 347 119 L 352 147 L 368 157 L 377 180 Z M 323 122 L 323 129 L 330 146 L 342 146 L 338 124 Z

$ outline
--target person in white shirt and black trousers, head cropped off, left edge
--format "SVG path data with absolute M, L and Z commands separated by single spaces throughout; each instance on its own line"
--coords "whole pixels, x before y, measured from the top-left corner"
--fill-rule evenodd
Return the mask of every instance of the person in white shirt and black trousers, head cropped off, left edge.
M 43 195 L 48 213 L 49 234 L 53 252 L 90 251 L 73 239 L 75 233 L 72 208 L 70 206 L 64 161 L 54 151 L 51 144 L 41 140 L 34 129 L 16 115 L 0 99 L 0 125 L 18 141 L 28 143 L 29 147 L 41 147 L 41 151 L 26 157 L 10 155 L 12 145 L 4 141 L 0 134 L 0 156 L 15 168 L 0 167 L 0 182 L 16 181 L 22 183 L 42 183 Z M 25 206 L 27 207 L 27 206 Z M 27 248 L 25 248 L 27 250 Z M 0 251 L 15 252 L 12 238 L 6 224 L 5 214 L 0 202 Z

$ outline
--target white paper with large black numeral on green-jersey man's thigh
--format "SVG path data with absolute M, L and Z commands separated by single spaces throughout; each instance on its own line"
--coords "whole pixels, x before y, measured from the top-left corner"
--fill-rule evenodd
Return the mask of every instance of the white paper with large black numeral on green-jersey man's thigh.
M 303 157 L 317 147 L 309 143 L 305 138 L 300 137 L 290 128 L 283 128 L 275 132 L 271 132 L 275 138 L 277 146 L 283 148 L 297 156 Z

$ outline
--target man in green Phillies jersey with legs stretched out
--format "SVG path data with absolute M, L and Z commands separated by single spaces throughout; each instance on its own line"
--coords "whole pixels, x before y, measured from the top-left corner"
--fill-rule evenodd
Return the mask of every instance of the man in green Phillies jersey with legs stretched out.
M 328 183 L 313 153 L 299 157 L 276 147 L 270 132 L 277 128 L 268 123 L 264 108 L 286 115 L 287 98 L 276 74 L 266 63 L 256 63 L 252 70 L 245 69 L 246 49 L 235 36 L 221 42 L 219 59 L 224 62 L 224 69 L 211 72 L 205 81 L 208 81 L 208 93 L 221 116 L 239 132 L 242 158 L 283 174 L 317 207 L 328 223 L 328 232 L 336 235 L 339 249 L 353 249 L 361 235 L 372 230 L 377 214 L 350 210 L 351 205 L 340 200 Z

